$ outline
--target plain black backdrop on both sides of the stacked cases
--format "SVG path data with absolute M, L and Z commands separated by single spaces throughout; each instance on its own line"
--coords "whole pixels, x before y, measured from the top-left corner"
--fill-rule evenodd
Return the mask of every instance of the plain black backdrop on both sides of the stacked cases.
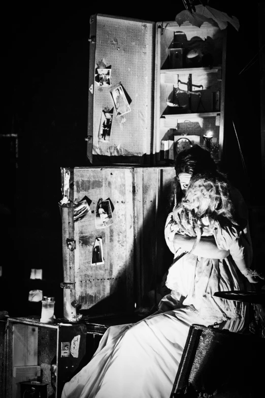
M 86 158 L 89 17 L 97 12 L 123 17 L 174 20 L 181 0 L 164 4 L 43 3 L 7 6 L 2 15 L 3 118 L 0 311 L 12 316 L 38 315 L 40 303 L 28 291 L 42 289 L 56 298 L 62 316 L 61 220 L 58 202 L 60 167 L 88 166 Z M 173 6 L 174 5 L 174 6 Z M 228 29 L 226 114 L 222 168 L 240 189 L 250 209 L 255 252 L 263 260 L 264 197 L 261 181 L 260 71 L 257 2 L 209 4 L 240 20 Z M 239 73 L 254 57 L 250 67 Z M 231 120 L 234 120 L 246 172 Z M 264 262 L 264 260 L 263 260 Z M 43 269 L 43 281 L 29 280 L 31 268 Z

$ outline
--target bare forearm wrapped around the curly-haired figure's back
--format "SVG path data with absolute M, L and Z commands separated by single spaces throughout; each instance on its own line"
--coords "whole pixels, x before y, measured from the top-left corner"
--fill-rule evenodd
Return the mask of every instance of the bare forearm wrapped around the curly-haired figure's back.
M 176 234 L 174 236 L 173 244 L 174 249 L 177 251 L 179 248 L 190 252 L 196 237 Z M 216 258 L 223 260 L 230 252 L 228 250 L 218 249 L 216 242 L 213 238 L 201 237 L 201 240 L 196 244 L 192 254 L 199 257 Z

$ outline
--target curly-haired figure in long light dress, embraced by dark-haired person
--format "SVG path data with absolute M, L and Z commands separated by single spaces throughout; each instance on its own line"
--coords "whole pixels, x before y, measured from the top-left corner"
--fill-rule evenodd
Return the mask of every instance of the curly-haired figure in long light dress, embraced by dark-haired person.
M 213 294 L 256 282 L 249 270 L 251 242 L 234 221 L 225 178 L 216 172 L 199 177 L 183 187 L 186 195 L 165 225 L 174 254 L 171 293 L 157 313 L 110 327 L 91 361 L 65 384 L 62 398 L 169 398 L 192 324 L 245 328 L 247 304 Z

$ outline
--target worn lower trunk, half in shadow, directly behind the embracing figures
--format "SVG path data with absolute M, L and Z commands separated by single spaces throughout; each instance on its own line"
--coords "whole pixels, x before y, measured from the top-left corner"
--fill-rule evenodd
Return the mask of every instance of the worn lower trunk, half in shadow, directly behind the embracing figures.
M 159 300 L 156 286 L 172 262 L 164 225 L 174 196 L 173 167 L 62 168 L 64 317 L 134 312 Z M 74 221 L 78 202 L 90 211 Z M 114 206 L 113 224 L 96 228 L 100 198 Z M 173 199 L 173 198 L 172 198 Z M 95 239 L 103 262 L 91 264 Z

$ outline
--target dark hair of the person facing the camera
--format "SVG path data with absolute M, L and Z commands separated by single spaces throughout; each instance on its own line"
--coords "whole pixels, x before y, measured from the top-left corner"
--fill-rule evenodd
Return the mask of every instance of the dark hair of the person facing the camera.
M 200 145 L 193 145 L 180 152 L 175 162 L 177 178 L 180 173 L 195 175 L 205 171 L 216 171 L 216 169 L 217 166 L 210 151 Z

